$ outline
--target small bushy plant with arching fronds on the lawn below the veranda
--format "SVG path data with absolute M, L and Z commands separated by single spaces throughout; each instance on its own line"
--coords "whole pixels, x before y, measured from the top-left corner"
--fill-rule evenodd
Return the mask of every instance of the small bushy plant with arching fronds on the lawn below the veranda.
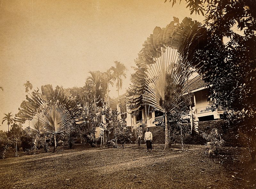
M 224 143 L 224 140 L 221 139 L 220 134 L 218 134 L 218 130 L 213 128 L 210 134 L 202 133 L 202 137 L 207 140 L 205 144 L 205 155 L 218 155 L 220 151 L 220 147 Z

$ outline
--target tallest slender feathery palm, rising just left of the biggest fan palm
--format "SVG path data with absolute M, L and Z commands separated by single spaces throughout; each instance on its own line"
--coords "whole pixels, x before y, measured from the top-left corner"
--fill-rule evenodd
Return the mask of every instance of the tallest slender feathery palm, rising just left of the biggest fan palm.
M 116 81 L 118 106 L 119 106 L 120 105 L 119 89 L 122 89 L 123 87 L 123 78 L 126 79 L 126 72 L 128 71 L 128 69 L 123 63 L 119 61 L 115 61 L 114 63 L 115 63 L 115 67 L 111 66 L 110 70 L 112 71 L 112 74 L 113 74 L 113 81 Z

